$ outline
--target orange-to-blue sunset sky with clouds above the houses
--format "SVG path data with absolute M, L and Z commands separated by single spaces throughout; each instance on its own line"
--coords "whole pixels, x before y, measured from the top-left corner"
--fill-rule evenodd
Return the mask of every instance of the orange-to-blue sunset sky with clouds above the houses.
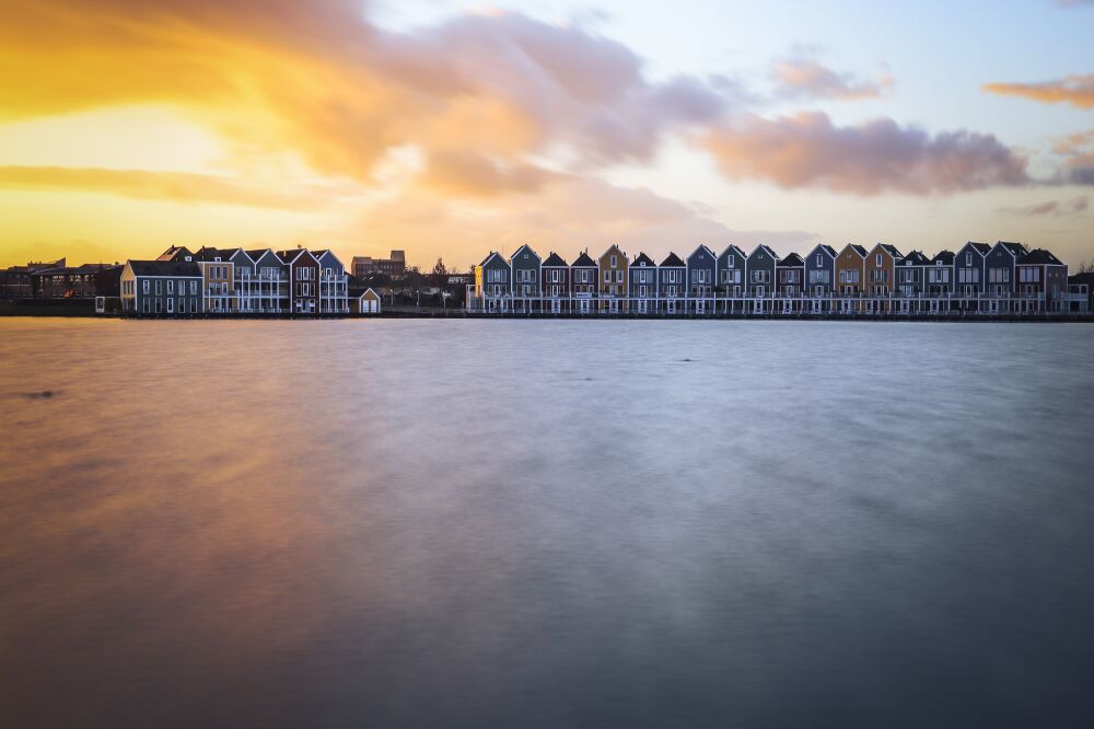
M 1094 259 L 1094 0 L 0 0 L 0 266 Z

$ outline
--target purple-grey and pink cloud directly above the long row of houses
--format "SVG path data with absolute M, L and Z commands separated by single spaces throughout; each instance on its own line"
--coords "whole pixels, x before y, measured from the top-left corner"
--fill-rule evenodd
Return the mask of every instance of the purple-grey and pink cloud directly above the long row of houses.
M 924 195 L 1029 182 L 1026 159 L 992 135 L 931 136 L 886 118 L 837 127 L 818 112 L 750 116 L 710 131 L 703 143 L 726 177 L 784 188 Z

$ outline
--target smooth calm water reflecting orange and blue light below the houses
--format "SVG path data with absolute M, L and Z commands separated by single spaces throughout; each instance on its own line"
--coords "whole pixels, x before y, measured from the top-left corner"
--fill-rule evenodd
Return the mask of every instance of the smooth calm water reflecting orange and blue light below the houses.
M 1084 325 L 0 320 L 0 726 L 1089 727 L 1092 363 Z

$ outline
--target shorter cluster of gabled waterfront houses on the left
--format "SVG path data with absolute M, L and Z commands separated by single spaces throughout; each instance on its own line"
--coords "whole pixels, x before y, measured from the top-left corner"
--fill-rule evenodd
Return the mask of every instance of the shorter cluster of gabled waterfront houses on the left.
M 121 310 L 137 316 L 194 314 L 379 314 L 380 296 L 354 287 L 331 251 L 171 246 L 128 261 Z

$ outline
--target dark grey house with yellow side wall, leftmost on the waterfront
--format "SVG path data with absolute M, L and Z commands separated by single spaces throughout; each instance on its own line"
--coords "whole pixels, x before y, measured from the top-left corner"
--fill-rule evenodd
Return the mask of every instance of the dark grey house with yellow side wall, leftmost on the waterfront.
M 191 261 L 127 261 L 121 310 L 149 316 L 200 314 L 201 270 Z

